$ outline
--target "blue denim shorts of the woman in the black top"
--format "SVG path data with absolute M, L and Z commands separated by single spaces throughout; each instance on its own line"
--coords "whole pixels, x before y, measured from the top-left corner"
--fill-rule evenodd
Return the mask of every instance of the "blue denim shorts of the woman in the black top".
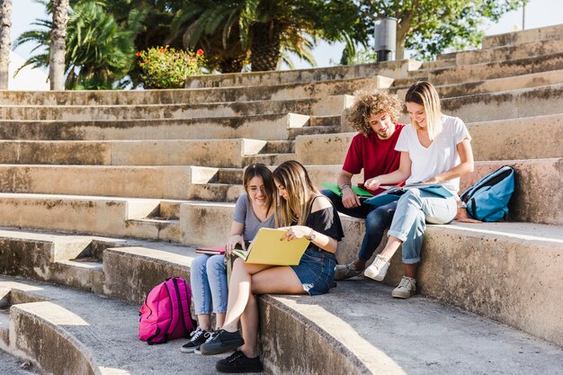
M 308 249 L 298 265 L 291 268 L 297 274 L 303 289 L 311 296 L 325 294 L 335 281 L 335 254 Z

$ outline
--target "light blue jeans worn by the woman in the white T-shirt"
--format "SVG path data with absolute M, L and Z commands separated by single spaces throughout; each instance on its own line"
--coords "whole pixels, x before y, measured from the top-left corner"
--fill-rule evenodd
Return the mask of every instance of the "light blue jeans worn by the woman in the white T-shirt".
M 403 263 L 420 263 L 426 223 L 448 224 L 455 218 L 455 196 L 443 198 L 432 192 L 411 189 L 398 200 L 388 236 L 403 241 Z

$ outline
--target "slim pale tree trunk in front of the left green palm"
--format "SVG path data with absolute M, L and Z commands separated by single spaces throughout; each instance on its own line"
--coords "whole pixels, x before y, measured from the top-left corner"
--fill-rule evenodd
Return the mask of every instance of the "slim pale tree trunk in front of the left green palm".
M 68 0 L 53 0 L 53 30 L 49 55 L 51 90 L 65 89 L 65 38 L 67 37 Z

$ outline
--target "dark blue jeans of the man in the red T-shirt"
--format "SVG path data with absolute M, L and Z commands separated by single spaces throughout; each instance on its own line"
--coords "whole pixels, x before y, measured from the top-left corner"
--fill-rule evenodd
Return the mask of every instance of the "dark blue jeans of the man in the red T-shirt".
M 362 203 L 360 207 L 346 209 L 342 203 L 342 198 L 334 192 L 323 190 L 321 193 L 333 202 L 338 212 L 353 218 L 365 219 L 365 234 L 363 235 L 362 247 L 360 247 L 358 258 L 363 262 L 369 261 L 375 249 L 380 246 L 383 232 L 391 225 L 393 214 L 397 209 L 397 201 L 378 208 L 374 208 L 371 204 Z

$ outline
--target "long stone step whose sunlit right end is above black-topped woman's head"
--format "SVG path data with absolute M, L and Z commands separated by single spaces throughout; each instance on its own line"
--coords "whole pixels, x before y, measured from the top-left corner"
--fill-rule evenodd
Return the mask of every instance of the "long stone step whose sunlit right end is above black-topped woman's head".
M 227 118 L 136 121 L 0 120 L 0 138 L 22 140 L 289 139 L 290 129 L 307 127 L 310 117 L 265 114 Z

